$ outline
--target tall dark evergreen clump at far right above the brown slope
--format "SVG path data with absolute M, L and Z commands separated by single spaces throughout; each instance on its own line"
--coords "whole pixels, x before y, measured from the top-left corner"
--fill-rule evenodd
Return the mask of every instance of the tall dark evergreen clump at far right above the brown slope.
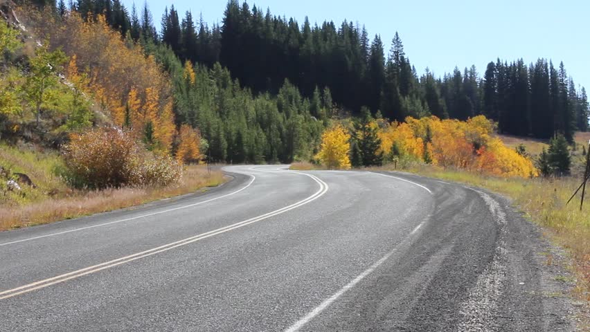
M 502 133 L 551 138 L 562 133 L 573 142 L 575 130 L 588 130 L 588 97 L 578 92 L 563 62 L 539 59 L 526 66 L 522 60 L 508 64 L 490 62 L 481 83 L 483 110 L 497 120 Z

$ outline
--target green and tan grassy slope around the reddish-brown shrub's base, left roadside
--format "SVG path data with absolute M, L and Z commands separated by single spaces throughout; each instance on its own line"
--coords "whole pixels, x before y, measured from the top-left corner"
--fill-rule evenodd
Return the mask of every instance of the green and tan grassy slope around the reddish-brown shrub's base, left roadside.
M 177 187 L 71 190 L 55 176 L 55 169 L 62 167 L 57 152 L 17 149 L 6 145 L 0 145 L 0 166 L 27 174 L 37 185 L 37 189 L 23 185 L 21 192 L 10 192 L 6 190 L 6 179 L 0 179 L 0 230 L 128 208 L 196 192 L 225 181 L 221 171 L 212 171 L 209 175 L 206 167 L 193 165 L 186 167 Z

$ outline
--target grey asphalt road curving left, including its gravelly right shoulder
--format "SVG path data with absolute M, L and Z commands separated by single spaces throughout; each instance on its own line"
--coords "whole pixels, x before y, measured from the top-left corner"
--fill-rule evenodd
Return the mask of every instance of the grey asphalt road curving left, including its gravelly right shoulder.
M 501 197 L 233 166 L 205 194 L 0 233 L 0 331 L 571 331 Z

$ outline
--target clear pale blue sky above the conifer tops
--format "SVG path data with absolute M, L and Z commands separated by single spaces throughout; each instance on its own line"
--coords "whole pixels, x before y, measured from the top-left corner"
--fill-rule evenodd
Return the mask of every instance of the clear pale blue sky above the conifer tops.
M 141 8 L 144 0 L 136 0 Z M 131 9 L 133 0 L 123 0 Z M 148 0 L 154 21 L 159 22 L 171 4 L 184 15 L 193 12 L 211 24 L 221 22 L 226 0 Z M 455 66 L 475 64 L 483 75 L 497 57 L 528 64 L 538 57 L 563 61 L 576 84 L 590 89 L 590 1 L 585 0 L 257 0 L 273 15 L 294 17 L 312 24 L 344 19 L 364 24 L 369 35 L 382 36 L 386 50 L 395 31 L 419 74 L 427 66 L 440 76 Z

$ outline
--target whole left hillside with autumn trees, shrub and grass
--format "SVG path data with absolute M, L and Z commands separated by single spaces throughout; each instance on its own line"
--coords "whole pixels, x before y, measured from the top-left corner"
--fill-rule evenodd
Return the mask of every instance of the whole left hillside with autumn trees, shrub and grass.
M 122 52 L 89 60 L 104 65 L 96 75 L 83 63 L 96 55 L 94 49 L 52 49 L 27 21 L 53 21 L 53 15 L 44 19 L 42 12 L 10 1 L 0 3 L 0 12 L 0 230 L 224 182 L 219 170 L 208 173 L 197 165 L 206 142 L 192 127 L 176 125 L 168 76 L 141 48 L 125 46 L 104 22 L 90 26 L 78 19 L 76 37 L 102 34 Z M 133 75 L 109 75 L 125 69 Z M 122 89 L 117 84 L 144 89 L 145 100 L 113 104 L 114 91 Z

